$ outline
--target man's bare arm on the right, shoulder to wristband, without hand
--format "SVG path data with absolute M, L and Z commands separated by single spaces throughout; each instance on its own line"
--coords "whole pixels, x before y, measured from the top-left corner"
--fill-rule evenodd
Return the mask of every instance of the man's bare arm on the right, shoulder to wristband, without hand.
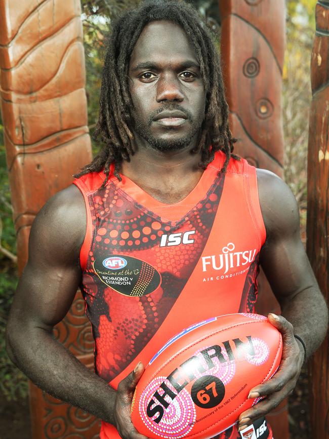
M 300 240 L 299 209 L 291 190 L 274 174 L 258 170 L 267 239 L 260 263 L 282 315 L 311 355 L 325 336 L 327 306 Z

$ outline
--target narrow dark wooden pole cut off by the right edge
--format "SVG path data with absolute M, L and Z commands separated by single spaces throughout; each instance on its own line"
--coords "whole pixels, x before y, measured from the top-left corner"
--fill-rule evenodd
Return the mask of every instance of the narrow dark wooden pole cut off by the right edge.
M 316 5 L 311 57 L 313 100 L 307 172 L 307 254 L 326 299 L 329 296 L 329 0 Z M 326 337 L 309 362 L 312 437 L 329 438 L 329 346 Z

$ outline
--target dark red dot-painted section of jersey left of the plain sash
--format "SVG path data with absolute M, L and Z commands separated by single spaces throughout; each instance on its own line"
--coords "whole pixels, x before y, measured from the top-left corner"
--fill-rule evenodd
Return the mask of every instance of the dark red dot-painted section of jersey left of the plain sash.
M 95 230 L 83 286 L 86 312 L 96 339 L 96 371 L 105 380 L 115 378 L 134 360 L 179 297 L 207 243 L 224 178 L 219 174 L 207 195 L 177 222 L 162 220 L 114 183 L 90 195 Z M 190 243 L 160 246 L 163 234 L 183 236 L 189 231 L 193 231 Z M 112 255 L 127 255 L 127 260 L 129 256 L 145 262 L 140 282 L 130 296 L 105 285 L 94 271 L 95 261 Z M 143 295 L 153 269 L 160 274 L 161 283 L 152 293 Z M 126 267 L 120 272 L 129 270 Z M 126 277 L 129 282 L 129 274 Z

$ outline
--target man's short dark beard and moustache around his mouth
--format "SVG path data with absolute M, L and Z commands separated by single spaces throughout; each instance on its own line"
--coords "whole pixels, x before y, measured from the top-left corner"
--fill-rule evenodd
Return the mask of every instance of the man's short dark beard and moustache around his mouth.
M 187 116 L 187 120 L 190 123 L 190 130 L 187 134 L 181 137 L 176 137 L 173 139 L 162 139 L 160 137 L 155 137 L 151 131 L 151 124 L 154 120 L 154 117 L 158 115 L 160 112 L 164 110 L 180 110 L 184 112 Z M 166 151 L 178 151 L 180 149 L 184 149 L 190 145 L 193 137 L 200 131 L 202 125 L 202 120 L 195 121 L 192 114 L 187 111 L 185 108 L 180 105 L 170 104 L 166 106 L 162 106 L 150 113 L 148 121 L 142 121 L 138 115 L 134 114 L 134 130 L 137 134 L 139 134 L 148 145 L 157 151 L 166 152 Z M 176 128 L 167 128 L 168 130 L 177 130 Z

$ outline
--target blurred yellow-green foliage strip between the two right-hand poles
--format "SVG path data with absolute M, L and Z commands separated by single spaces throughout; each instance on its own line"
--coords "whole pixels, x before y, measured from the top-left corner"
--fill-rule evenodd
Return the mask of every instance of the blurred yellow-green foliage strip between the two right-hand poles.
M 306 209 L 308 122 L 311 103 L 310 59 L 316 0 L 287 0 L 283 69 L 284 177 L 301 210 Z M 302 215 L 302 222 L 303 222 Z

